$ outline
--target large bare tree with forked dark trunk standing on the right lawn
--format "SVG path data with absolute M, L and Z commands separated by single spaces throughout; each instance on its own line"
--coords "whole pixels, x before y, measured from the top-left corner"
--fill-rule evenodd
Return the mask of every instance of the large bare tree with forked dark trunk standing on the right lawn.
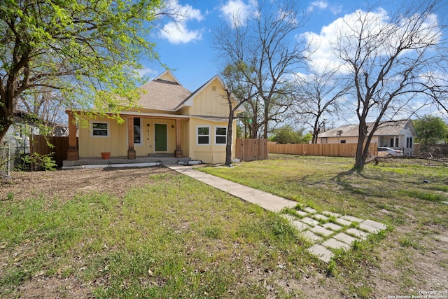
M 390 18 L 384 10 L 356 11 L 344 18 L 334 53 L 354 85 L 359 137 L 356 169 L 363 169 L 374 132 L 402 111 L 412 111 L 414 99 L 428 104 L 434 95 L 431 74 L 446 62 L 441 26 L 435 12 L 443 1 L 432 0 L 401 8 Z M 367 122 L 372 124 L 369 126 Z

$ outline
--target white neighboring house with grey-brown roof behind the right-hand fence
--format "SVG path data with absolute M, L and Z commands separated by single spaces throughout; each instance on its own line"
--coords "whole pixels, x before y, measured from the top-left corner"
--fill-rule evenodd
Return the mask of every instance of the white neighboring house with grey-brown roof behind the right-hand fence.
M 371 126 L 373 123 L 367 123 Z M 405 155 L 412 153 L 414 139 L 417 137 L 411 120 L 395 120 L 381 123 L 372 137 L 378 146 L 402 149 Z M 358 125 L 343 125 L 318 134 L 318 144 L 349 144 L 358 142 Z

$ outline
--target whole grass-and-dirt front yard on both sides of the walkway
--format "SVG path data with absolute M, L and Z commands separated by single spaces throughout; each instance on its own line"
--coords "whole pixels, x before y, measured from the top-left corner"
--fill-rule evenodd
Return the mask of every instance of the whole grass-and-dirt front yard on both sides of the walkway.
M 387 298 L 448 291 L 448 172 L 275 155 L 204 172 L 390 228 L 326 265 L 277 214 L 164 167 L 15 173 L 0 297 Z M 429 181 L 429 183 L 423 183 Z M 284 211 L 294 213 L 294 211 Z M 446 294 L 448 295 L 448 294 Z

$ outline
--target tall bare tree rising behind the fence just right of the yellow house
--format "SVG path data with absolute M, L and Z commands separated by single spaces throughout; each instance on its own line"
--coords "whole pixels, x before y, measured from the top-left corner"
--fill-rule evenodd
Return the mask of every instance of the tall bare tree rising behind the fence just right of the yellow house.
M 245 65 L 239 69 L 246 81 L 255 86 L 257 97 L 251 101 L 256 108 L 254 118 L 261 118 L 262 137 L 267 138 L 269 122 L 280 121 L 291 104 L 287 75 L 304 64 L 304 41 L 297 41 L 297 29 L 304 25 L 297 19 L 296 1 L 256 2 L 247 20 L 233 15 L 232 22 L 216 29 L 214 45 L 227 64 Z M 244 62 L 244 64 L 241 64 Z M 260 113 L 260 115 L 258 115 Z

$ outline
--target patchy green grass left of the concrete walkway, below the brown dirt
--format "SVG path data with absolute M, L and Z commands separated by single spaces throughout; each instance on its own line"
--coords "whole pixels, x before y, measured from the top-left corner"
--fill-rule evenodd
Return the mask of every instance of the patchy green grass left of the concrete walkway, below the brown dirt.
M 2 202 L 0 296 L 43 273 L 96 298 L 265 298 L 264 280 L 316 263 L 276 214 L 174 172 L 151 181 L 123 199 Z

